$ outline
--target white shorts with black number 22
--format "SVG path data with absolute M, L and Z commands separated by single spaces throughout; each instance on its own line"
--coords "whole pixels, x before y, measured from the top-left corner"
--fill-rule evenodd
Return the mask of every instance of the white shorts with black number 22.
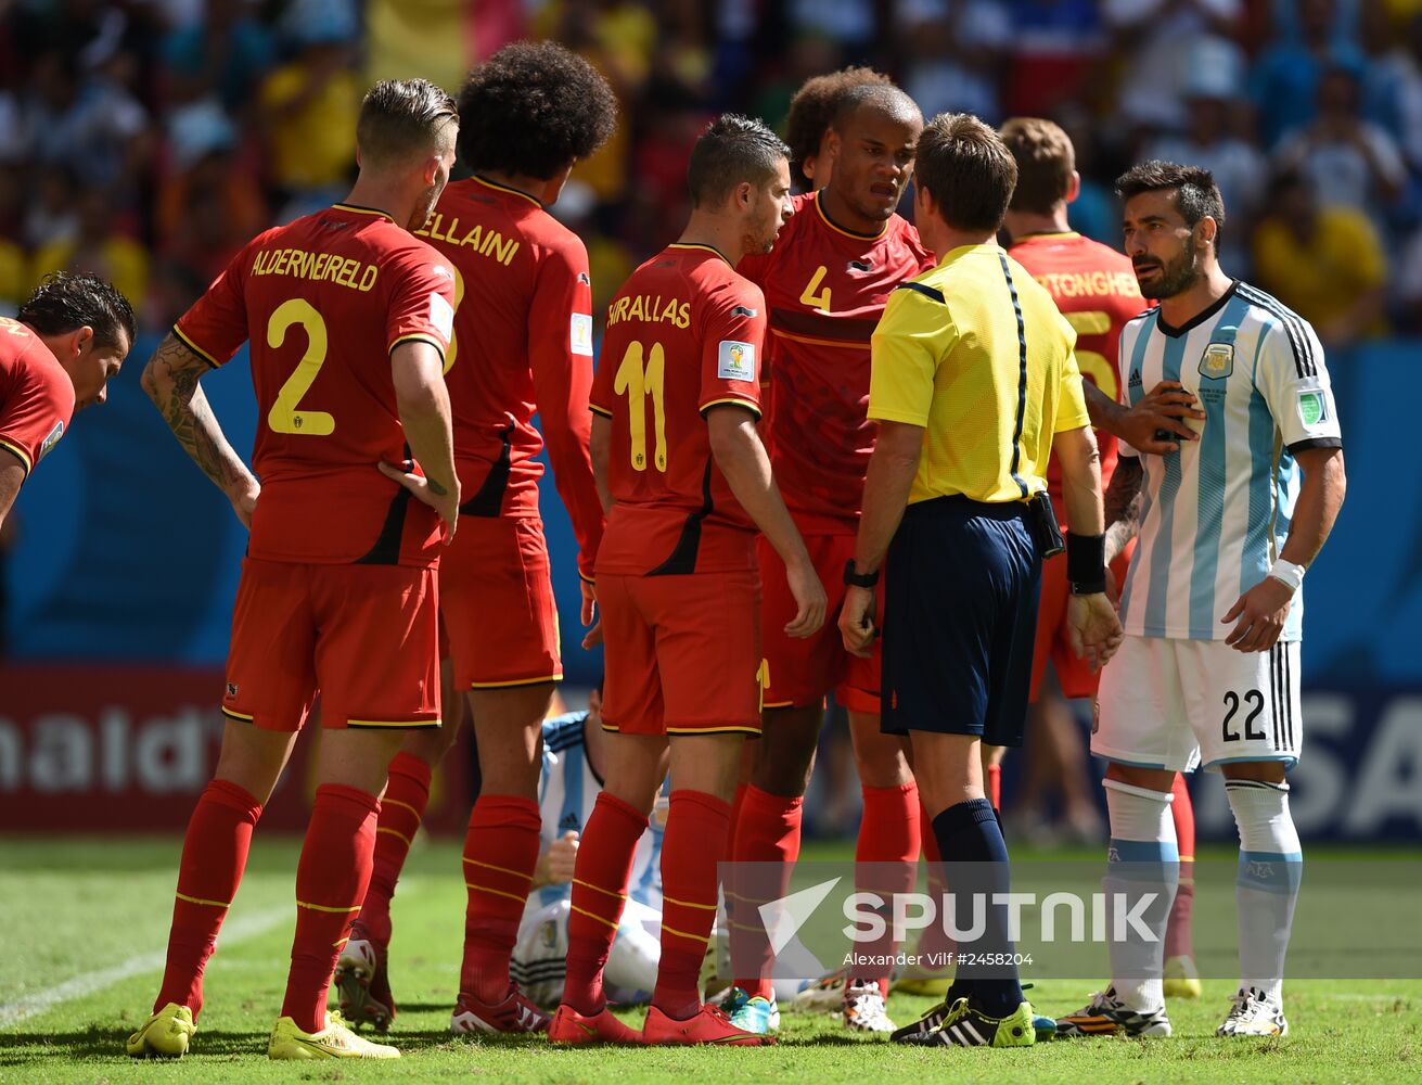
M 1142 768 L 1193 772 L 1231 761 L 1283 761 L 1304 741 L 1298 641 L 1236 651 L 1223 640 L 1126 636 L 1101 674 L 1091 752 Z

